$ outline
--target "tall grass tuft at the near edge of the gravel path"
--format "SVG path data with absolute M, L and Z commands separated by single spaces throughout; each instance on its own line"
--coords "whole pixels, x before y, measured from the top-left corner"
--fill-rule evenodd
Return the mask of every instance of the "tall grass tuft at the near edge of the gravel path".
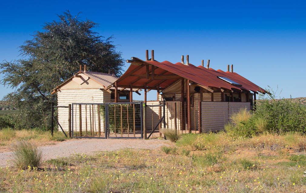
M 14 153 L 13 162 L 17 168 L 33 169 L 40 166 L 42 151 L 36 145 L 26 141 L 18 141 L 12 145 L 11 150 Z

